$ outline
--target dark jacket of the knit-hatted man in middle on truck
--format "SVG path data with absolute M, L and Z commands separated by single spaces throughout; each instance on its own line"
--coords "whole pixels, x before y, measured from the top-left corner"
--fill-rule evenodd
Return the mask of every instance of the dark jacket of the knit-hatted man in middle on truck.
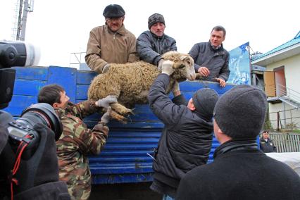
M 158 65 L 161 55 L 168 51 L 177 51 L 176 40 L 168 35 L 157 37 L 146 30 L 137 38 L 137 54 L 142 61 Z

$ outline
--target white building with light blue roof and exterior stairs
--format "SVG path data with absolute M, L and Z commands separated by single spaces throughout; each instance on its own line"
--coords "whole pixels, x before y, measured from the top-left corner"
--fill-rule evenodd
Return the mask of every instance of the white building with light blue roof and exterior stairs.
M 251 59 L 263 78 L 273 129 L 300 130 L 300 31 L 289 42 Z

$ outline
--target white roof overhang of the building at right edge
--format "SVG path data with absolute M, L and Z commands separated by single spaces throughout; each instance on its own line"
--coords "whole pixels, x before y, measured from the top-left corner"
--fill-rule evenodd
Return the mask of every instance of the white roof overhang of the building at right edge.
M 252 65 L 261 65 L 261 66 L 266 67 L 267 65 L 270 65 L 277 61 L 282 61 L 286 58 L 296 56 L 299 54 L 300 54 L 300 43 L 295 44 L 293 46 L 289 46 L 286 49 L 276 51 L 275 53 L 270 54 L 268 56 L 263 56 L 262 58 L 258 58 L 255 61 L 251 61 L 251 64 Z

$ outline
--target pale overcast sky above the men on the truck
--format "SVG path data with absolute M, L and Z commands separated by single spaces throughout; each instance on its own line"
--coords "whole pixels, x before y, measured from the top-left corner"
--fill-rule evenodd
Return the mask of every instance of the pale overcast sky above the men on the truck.
M 0 40 L 12 39 L 16 2 L 0 1 Z M 250 42 L 253 51 L 265 53 L 300 30 L 299 0 L 35 0 L 34 11 L 27 16 L 25 41 L 41 49 L 39 65 L 69 67 L 70 53 L 86 51 L 89 31 L 104 25 L 102 13 L 108 4 L 123 6 L 125 27 L 136 37 L 148 30 L 149 15 L 163 14 L 165 34 L 176 39 L 182 53 L 195 43 L 207 42 L 215 25 L 227 30 L 223 42 L 227 51 Z

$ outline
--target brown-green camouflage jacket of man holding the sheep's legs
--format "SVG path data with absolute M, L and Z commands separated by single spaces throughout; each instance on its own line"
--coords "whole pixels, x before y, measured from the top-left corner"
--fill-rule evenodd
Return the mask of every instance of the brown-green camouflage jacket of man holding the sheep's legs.
M 93 130 L 82 122 L 98 108 L 94 101 L 78 104 L 68 102 L 65 108 L 56 109 L 63 124 L 63 133 L 56 142 L 59 179 L 68 185 L 72 199 L 88 199 L 91 192 L 91 172 L 88 154 L 100 154 L 108 137 L 108 127 L 99 122 Z

